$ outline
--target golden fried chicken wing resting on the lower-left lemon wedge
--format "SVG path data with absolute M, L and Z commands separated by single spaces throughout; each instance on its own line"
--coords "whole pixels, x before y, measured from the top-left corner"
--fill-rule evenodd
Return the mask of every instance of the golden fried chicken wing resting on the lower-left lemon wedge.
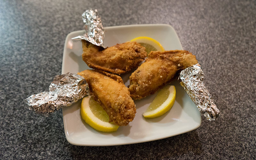
M 123 126 L 133 120 L 135 104 L 120 76 L 101 70 L 84 70 L 78 74 L 88 83 L 94 100 L 107 112 L 109 122 Z

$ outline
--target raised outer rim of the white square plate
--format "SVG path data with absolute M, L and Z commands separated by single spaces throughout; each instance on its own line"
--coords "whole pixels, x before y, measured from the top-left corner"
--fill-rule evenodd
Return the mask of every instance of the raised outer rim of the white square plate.
M 179 36 L 177 35 L 175 29 L 169 25 L 169 24 L 132 24 L 132 25 L 121 25 L 121 26 L 109 26 L 109 27 L 105 27 L 105 29 L 115 29 L 115 28 L 132 28 L 132 27 L 146 27 L 146 26 L 166 26 L 166 27 L 170 27 L 175 35 L 177 36 L 178 38 L 178 43 L 180 44 L 180 46 L 182 47 L 181 43 L 180 43 L 180 38 Z M 64 59 L 66 58 L 66 54 L 64 54 L 67 50 L 67 40 L 68 40 L 68 37 L 71 35 L 71 34 L 74 34 L 74 33 L 77 33 L 77 32 L 82 32 L 84 30 L 77 30 L 77 31 L 72 31 L 70 33 L 68 33 L 68 35 L 66 36 L 65 38 L 65 44 L 64 44 L 64 50 L 63 50 L 63 56 L 62 56 L 62 66 L 61 66 L 61 74 L 65 74 L 63 73 L 63 70 L 64 70 Z M 182 50 L 183 50 L 183 47 L 182 47 Z M 113 142 L 113 143 L 107 143 L 107 144 L 84 144 L 84 143 L 79 143 L 79 142 L 76 142 L 76 141 L 73 141 L 68 135 L 68 131 L 67 131 L 67 127 L 66 127 L 66 119 L 64 118 L 64 113 L 62 111 L 62 118 L 63 118 L 63 126 L 64 126 L 64 131 L 65 131 L 65 136 L 66 136 L 66 139 L 67 141 L 72 144 L 72 145 L 76 145 L 76 146 L 118 146 L 118 145 L 128 145 L 128 144 L 136 144 L 136 143 L 144 143 L 144 142 L 149 142 L 149 141 L 155 141 L 155 140 L 161 140 L 161 139 L 165 139 L 165 138 L 169 138 L 169 137 L 173 137 L 173 136 L 177 136 L 177 135 L 180 135 L 180 134 L 183 134 L 183 133 L 186 133 L 186 132 L 190 132 L 190 131 L 193 131 L 193 130 L 196 130 L 197 128 L 199 128 L 202 124 L 202 116 L 200 115 L 200 123 L 198 125 L 196 125 L 195 127 L 191 128 L 191 129 L 188 129 L 188 130 L 184 130 L 182 132 L 179 132 L 179 133 L 175 133 L 175 134 L 172 134 L 170 136 L 166 135 L 164 137 L 160 137 L 160 138 L 154 138 L 154 139 L 149 139 L 149 140 L 142 140 L 142 141 L 138 141 L 138 142 L 125 142 L 125 143 L 122 143 L 122 142 L 119 142 L 119 143 L 116 143 L 116 142 Z

